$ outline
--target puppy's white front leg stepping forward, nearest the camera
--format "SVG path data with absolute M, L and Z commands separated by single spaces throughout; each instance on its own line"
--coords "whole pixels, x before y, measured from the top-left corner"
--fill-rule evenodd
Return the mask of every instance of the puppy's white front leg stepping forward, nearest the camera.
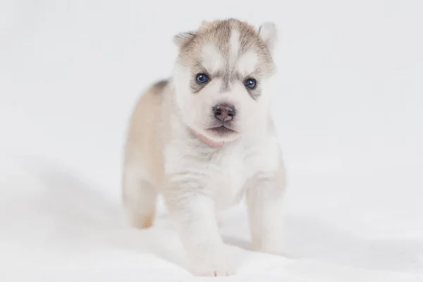
M 196 276 L 233 274 L 219 234 L 213 200 L 201 192 L 182 187 L 171 188 L 165 198 L 187 251 L 192 273 Z

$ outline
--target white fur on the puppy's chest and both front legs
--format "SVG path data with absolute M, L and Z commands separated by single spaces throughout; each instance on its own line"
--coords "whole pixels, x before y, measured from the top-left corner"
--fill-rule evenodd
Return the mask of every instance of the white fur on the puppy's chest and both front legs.
M 255 133 L 219 150 L 200 149 L 188 136 L 166 146 L 165 172 L 171 184 L 166 186 L 164 195 L 173 203 L 170 206 L 175 205 L 170 212 L 194 274 L 233 274 L 219 235 L 216 212 L 237 204 L 245 192 L 250 195 L 253 247 L 283 254 L 283 186 L 271 180 L 280 165 L 278 144 L 275 137 L 264 135 L 262 130 Z M 181 132 L 175 135 L 184 136 Z M 209 154 L 210 158 L 199 157 L 202 154 Z M 251 180 L 258 172 L 269 173 L 269 184 Z

